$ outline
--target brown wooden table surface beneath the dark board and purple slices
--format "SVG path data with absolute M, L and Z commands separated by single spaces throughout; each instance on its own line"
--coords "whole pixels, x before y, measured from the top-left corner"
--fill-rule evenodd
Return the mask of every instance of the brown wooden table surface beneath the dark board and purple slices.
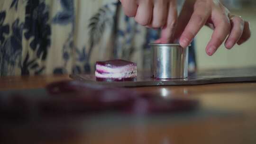
M 61 80 L 69 80 L 69 77 L 67 75 L 5 77 L 0 78 L 0 90 L 43 88 L 50 82 Z M 26 142 L 40 142 L 40 144 L 256 144 L 256 83 L 131 89 L 164 97 L 199 99 L 201 109 L 213 110 L 217 113 L 220 111 L 224 114 L 223 116 L 210 114 L 209 117 L 196 118 L 193 118 L 193 115 L 180 117 L 178 114 L 173 117 L 168 116 L 166 119 L 171 119 L 170 121 L 166 121 L 164 116 L 154 116 L 147 117 L 150 122 L 140 119 L 128 121 L 127 124 L 124 124 L 125 118 L 121 119 L 123 122 L 111 122 L 110 120 L 113 119 L 102 116 L 90 118 L 90 125 L 86 125 L 88 117 L 78 118 L 77 122 L 74 122 L 76 120 L 67 122 L 64 118 L 58 123 L 64 123 L 65 130 L 56 127 L 54 130 L 46 129 L 38 132 L 37 129 L 33 129 L 29 135 L 26 135 L 20 128 L 18 129 L 20 133 L 16 136 L 13 135 L 14 131 L 9 130 L 10 135 L 5 135 L 7 136 L 5 140 L 14 141 L 13 137 L 20 137 Z M 101 122 L 97 123 L 99 119 Z M 63 135 L 52 135 L 56 133 Z M 44 137 L 47 134 L 51 134 L 52 137 Z

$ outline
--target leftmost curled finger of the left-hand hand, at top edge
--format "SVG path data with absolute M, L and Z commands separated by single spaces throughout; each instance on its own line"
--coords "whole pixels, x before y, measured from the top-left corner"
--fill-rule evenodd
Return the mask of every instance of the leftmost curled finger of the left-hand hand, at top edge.
M 135 17 L 138 5 L 135 0 L 120 0 L 124 9 L 124 13 L 128 17 Z

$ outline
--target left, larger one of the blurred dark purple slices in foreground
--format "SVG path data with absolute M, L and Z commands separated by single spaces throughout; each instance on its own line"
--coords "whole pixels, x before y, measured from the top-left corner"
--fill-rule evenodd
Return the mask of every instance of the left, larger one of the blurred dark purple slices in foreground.
M 50 101 L 40 106 L 46 113 L 122 111 L 135 101 L 138 93 L 125 88 L 87 84 L 82 81 L 60 81 L 49 84 Z

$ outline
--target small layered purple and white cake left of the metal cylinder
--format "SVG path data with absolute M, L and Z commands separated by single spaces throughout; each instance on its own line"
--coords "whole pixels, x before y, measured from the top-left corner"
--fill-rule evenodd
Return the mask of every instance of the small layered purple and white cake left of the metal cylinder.
M 96 62 L 97 81 L 136 81 L 137 64 L 125 60 Z

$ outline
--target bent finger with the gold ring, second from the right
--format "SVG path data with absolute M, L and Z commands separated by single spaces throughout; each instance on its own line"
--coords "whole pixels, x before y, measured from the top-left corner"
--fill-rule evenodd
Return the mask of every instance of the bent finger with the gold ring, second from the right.
M 244 20 L 240 17 L 233 17 L 230 19 L 231 32 L 226 40 L 225 46 L 227 49 L 231 49 L 240 39 L 244 31 Z

